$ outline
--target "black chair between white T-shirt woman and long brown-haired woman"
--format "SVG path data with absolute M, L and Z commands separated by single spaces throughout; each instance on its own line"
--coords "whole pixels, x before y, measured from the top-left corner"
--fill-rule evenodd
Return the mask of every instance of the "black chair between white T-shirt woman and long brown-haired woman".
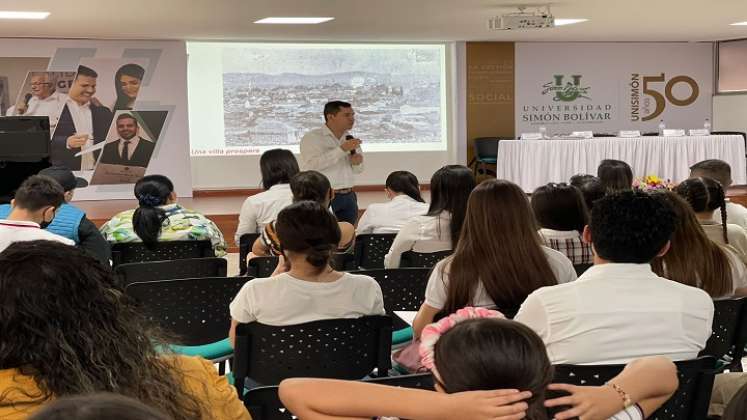
M 384 310 L 392 317 L 393 328 L 407 328 L 404 321 L 394 315 L 394 311 L 417 311 L 425 298 L 430 268 L 394 268 L 388 270 L 363 270 L 355 274 L 373 277 L 384 296 Z

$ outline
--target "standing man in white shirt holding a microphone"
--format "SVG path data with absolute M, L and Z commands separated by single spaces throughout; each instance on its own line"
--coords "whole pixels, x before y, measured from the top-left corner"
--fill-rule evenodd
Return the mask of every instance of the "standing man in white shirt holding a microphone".
M 324 125 L 301 139 L 303 170 L 323 173 L 335 192 L 332 210 L 338 221 L 355 225 L 358 198 L 353 191 L 355 174 L 363 172 L 361 141 L 348 132 L 355 124 L 353 107 L 342 101 L 324 105 Z

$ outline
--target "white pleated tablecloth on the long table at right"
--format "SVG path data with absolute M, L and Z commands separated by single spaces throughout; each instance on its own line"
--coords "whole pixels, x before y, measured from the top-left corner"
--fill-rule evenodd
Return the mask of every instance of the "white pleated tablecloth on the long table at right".
M 603 159 L 627 162 L 635 177 L 658 175 L 674 182 L 687 179 L 696 162 L 721 159 L 731 165 L 735 184 L 747 183 L 742 136 L 501 140 L 496 176 L 532 192 L 575 174 L 596 175 Z

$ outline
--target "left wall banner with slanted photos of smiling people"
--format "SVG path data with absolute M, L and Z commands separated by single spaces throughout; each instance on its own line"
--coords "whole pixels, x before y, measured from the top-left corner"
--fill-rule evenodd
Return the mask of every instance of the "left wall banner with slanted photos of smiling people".
M 192 196 L 184 42 L 3 39 L 0 63 L 4 57 L 12 60 L 0 73 L 26 76 L 11 86 L 18 92 L 11 111 L 32 109 L 35 84 L 64 82 L 51 158 L 89 180 L 76 200 L 131 199 L 132 184 L 143 174 L 166 175 L 178 196 Z M 30 66 L 32 59 L 44 66 Z M 88 109 L 90 117 L 81 111 Z M 124 111 L 130 118 L 118 127 L 114 118 Z M 125 154 L 118 145 L 127 140 Z

